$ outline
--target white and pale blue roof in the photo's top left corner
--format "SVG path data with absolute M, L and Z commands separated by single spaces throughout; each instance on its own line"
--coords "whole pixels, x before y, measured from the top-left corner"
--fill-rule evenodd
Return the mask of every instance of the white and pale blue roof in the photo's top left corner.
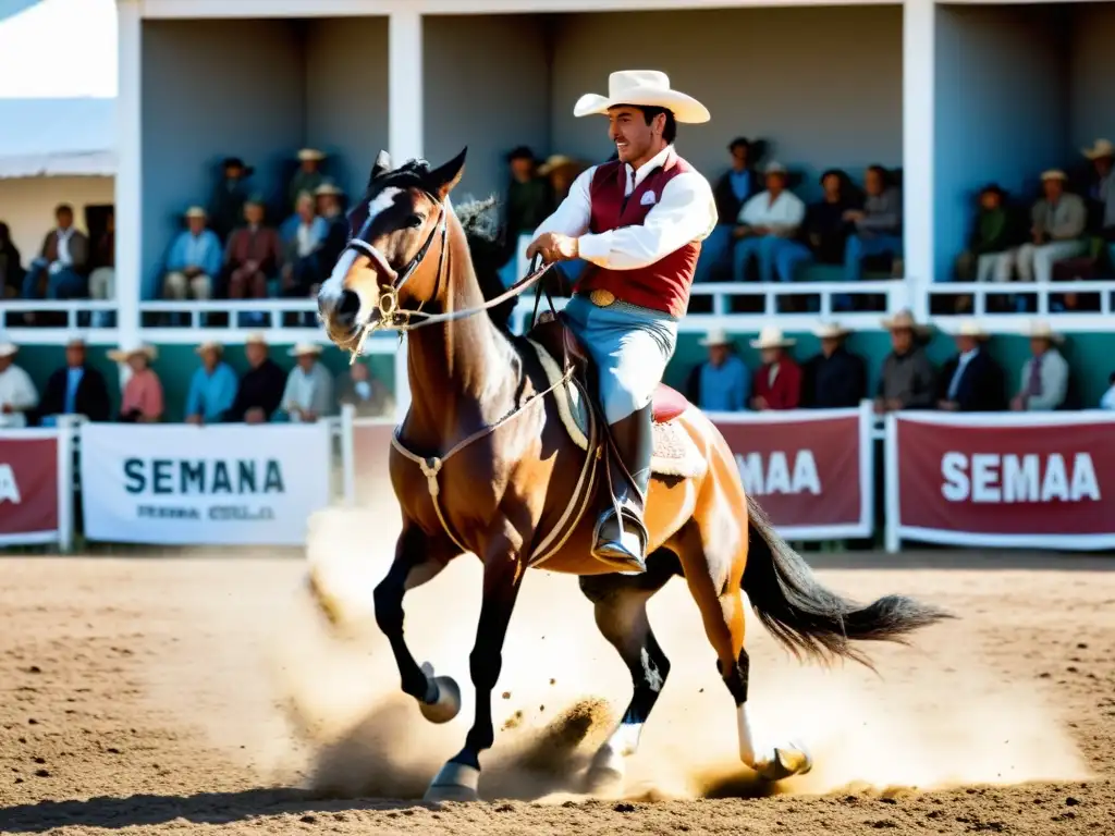
M 114 0 L 0 0 L 0 177 L 116 173 Z

